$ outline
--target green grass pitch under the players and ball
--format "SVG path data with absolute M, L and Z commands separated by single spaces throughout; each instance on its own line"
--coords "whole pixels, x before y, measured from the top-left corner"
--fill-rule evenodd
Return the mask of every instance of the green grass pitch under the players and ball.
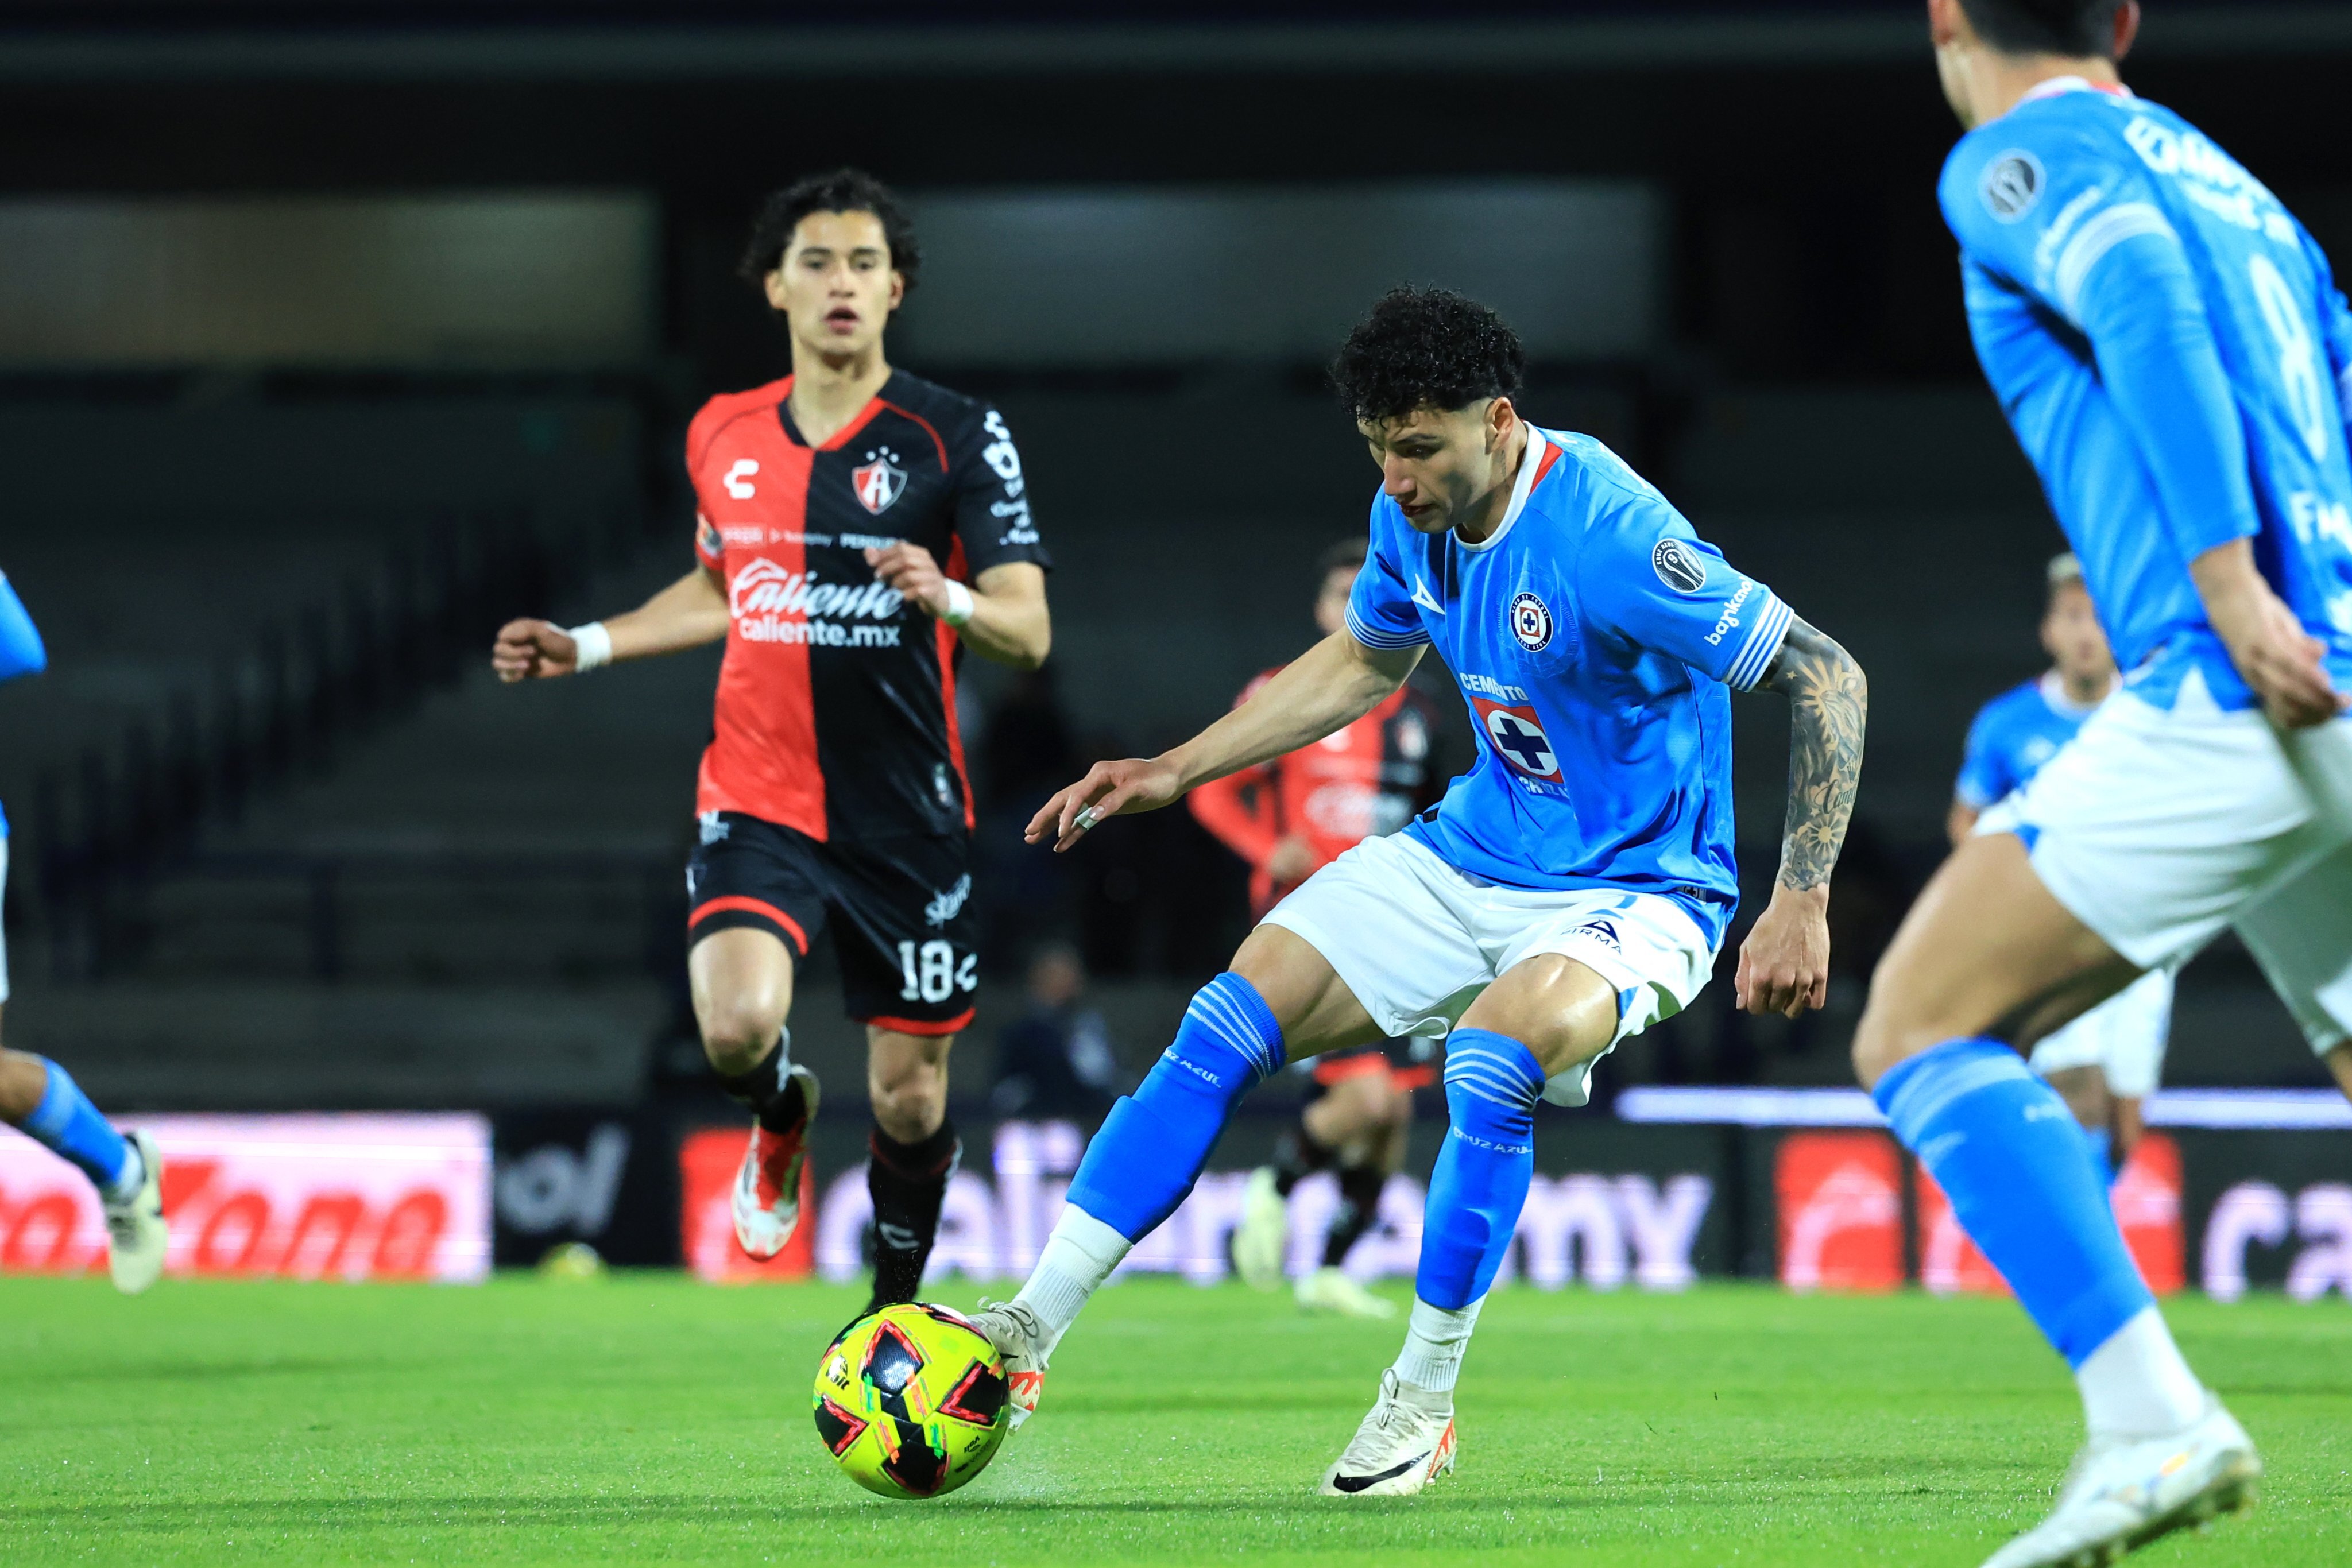
M 1969 1566 L 2042 1514 L 2077 1436 L 2009 1302 L 1512 1288 L 1463 1373 L 1461 1472 L 1341 1502 L 1312 1488 L 1397 1328 L 1138 1281 L 988 1474 L 882 1502 L 809 1425 L 854 1305 L 661 1274 L 139 1300 L 7 1279 L 0 1563 Z M 2352 1309 L 2173 1321 L 2270 1476 L 2251 1519 L 2133 1561 L 2352 1561 Z

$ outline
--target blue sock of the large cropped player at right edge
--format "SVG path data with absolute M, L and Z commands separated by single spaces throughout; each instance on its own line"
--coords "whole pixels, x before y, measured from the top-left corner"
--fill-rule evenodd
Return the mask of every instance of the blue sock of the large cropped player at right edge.
M 2016 1051 L 1947 1039 L 1872 1098 L 2067 1366 L 2154 1305 L 2082 1128 Z

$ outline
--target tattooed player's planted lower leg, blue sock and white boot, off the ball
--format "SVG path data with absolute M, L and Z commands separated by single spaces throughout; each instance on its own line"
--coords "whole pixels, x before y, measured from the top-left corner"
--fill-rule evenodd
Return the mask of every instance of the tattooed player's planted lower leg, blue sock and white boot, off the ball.
M 1536 1173 L 1543 1065 L 1522 1041 L 1463 1027 L 1446 1039 L 1446 1143 L 1430 1171 L 1404 1352 L 1355 1441 L 1324 1472 L 1331 1497 L 1402 1497 L 1454 1469 L 1454 1382 Z

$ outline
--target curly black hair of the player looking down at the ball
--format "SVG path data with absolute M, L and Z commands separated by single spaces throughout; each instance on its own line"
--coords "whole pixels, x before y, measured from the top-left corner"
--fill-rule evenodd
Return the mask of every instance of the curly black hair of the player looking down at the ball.
M 1519 334 L 1454 289 L 1390 289 L 1331 360 L 1331 388 L 1359 423 L 1515 397 L 1524 374 Z

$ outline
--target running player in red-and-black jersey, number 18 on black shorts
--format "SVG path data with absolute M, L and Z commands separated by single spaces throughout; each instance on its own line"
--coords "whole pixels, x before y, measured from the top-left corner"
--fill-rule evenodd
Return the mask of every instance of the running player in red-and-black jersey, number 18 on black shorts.
M 915 233 L 868 174 L 767 200 L 743 275 L 793 374 L 713 397 L 687 433 L 696 567 L 640 609 L 513 621 L 501 679 L 727 639 L 687 863 L 687 973 L 703 1051 L 753 1112 L 736 1241 L 783 1251 L 816 1077 L 790 1053 L 793 978 L 835 922 L 873 1100 L 875 1305 L 915 1298 L 962 1145 L 948 1046 L 971 1023 L 971 788 L 955 726 L 964 644 L 1044 663 L 1047 555 L 1002 416 L 891 369 L 882 334 Z

